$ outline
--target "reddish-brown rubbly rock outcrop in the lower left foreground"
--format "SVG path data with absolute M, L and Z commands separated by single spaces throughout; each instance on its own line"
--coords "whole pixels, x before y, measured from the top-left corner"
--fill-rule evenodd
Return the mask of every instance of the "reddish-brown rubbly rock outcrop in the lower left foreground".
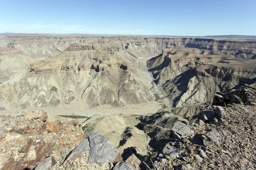
M 47 156 L 60 162 L 84 139 L 81 128 L 71 120 L 60 118 L 63 122 L 56 123 L 52 119 L 58 118 L 44 111 L 0 116 L 0 169 L 32 168 Z

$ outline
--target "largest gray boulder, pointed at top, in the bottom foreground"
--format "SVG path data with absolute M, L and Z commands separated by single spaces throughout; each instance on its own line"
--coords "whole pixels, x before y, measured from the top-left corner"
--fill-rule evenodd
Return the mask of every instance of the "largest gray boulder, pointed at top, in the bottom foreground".
M 119 151 L 114 149 L 99 132 L 92 133 L 88 139 L 90 142 L 89 164 L 96 162 L 102 165 L 108 162 L 113 163 L 122 160 Z

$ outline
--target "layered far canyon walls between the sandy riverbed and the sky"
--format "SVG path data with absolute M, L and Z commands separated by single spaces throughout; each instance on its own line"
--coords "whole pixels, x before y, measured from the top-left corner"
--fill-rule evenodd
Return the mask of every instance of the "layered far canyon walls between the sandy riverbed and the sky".
M 154 102 L 155 96 L 174 109 L 211 103 L 215 93 L 256 77 L 253 39 L 47 34 L 0 39 L 2 110 L 123 107 Z

